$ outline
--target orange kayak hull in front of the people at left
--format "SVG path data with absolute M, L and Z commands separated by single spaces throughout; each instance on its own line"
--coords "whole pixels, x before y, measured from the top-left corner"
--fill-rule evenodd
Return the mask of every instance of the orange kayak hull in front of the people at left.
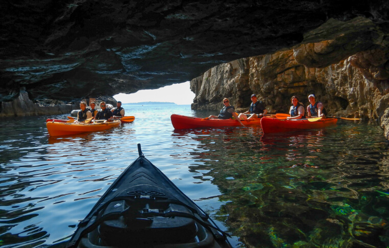
M 77 134 L 82 132 L 95 132 L 120 126 L 119 120 L 103 123 L 64 123 L 64 122 L 47 122 L 47 130 L 50 136 L 64 136 L 70 134 Z

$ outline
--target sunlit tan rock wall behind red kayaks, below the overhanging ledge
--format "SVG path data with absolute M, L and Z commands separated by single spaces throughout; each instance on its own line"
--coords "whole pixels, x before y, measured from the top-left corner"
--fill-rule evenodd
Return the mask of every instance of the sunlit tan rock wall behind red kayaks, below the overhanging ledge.
M 227 97 L 237 111 L 246 111 L 254 93 L 269 112 L 286 113 L 293 95 L 307 106 L 308 95 L 314 94 L 330 116 L 380 121 L 389 139 L 389 76 L 384 51 L 359 52 L 321 68 L 298 63 L 295 54 L 296 49 L 279 51 L 211 68 L 190 82 L 196 94 L 192 109 L 219 110 Z

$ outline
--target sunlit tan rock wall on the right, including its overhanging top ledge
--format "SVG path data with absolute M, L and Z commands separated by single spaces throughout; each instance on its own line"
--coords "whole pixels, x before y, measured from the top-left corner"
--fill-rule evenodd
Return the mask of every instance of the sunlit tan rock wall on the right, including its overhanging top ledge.
M 192 108 L 220 109 L 227 97 L 246 111 L 254 93 L 270 112 L 288 112 L 292 96 L 307 106 L 314 94 L 331 116 L 380 121 L 389 138 L 388 30 L 362 17 L 329 20 L 293 49 L 224 63 L 191 80 Z M 308 42 L 314 35 L 328 39 Z

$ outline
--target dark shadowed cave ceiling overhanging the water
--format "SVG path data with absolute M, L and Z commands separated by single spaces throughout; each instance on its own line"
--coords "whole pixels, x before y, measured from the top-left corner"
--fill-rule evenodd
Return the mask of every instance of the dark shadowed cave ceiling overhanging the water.
M 328 40 L 325 61 L 316 45 L 296 48 L 299 63 L 325 66 L 376 46 L 388 9 L 383 0 L 1 1 L 0 101 L 20 88 L 48 102 L 134 93 L 300 42 Z M 344 26 L 356 17 L 357 28 Z M 331 32 L 305 35 L 323 24 Z

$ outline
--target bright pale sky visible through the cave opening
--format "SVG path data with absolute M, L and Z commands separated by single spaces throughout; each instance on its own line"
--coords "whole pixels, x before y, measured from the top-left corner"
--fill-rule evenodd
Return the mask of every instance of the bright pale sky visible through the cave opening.
M 191 104 L 195 93 L 190 91 L 189 81 L 176 83 L 158 89 L 142 89 L 133 94 L 118 94 L 114 98 L 122 103 L 174 102 L 178 105 Z

